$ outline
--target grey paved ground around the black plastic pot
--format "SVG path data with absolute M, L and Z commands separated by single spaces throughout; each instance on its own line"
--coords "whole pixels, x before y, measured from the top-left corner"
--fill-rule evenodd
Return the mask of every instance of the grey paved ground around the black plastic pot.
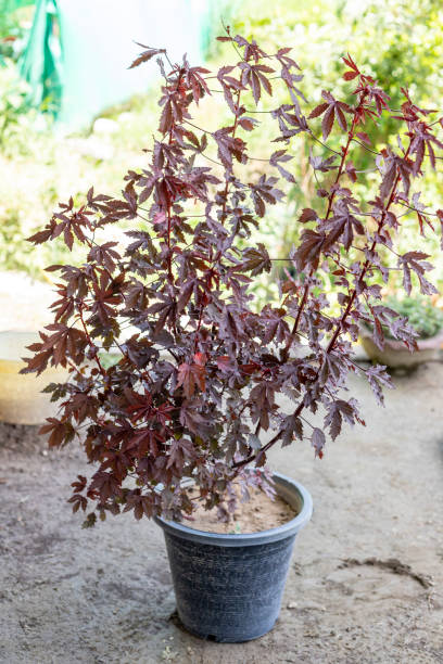
M 349 430 L 322 461 L 306 444 L 274 456 L 309 488 L 315 513 L 275 629 L 233 646 L 169 620 L 153 523 L 124 515 L 79 527 L 65 502 L 88 472 L 76 447 L 47 451 L 35 427 L 0 424 L 0 662 L 443 662 L 443 366 L 395 382 L 384 410 L 354 382 L 368 426 Z

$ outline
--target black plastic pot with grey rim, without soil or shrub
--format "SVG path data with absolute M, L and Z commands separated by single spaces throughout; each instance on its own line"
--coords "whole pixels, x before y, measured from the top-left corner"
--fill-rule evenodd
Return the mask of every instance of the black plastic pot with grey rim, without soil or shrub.
M 274 481 L 299 512 L 277 528 L 225 535 L 155 519 L 165 534 L 179 618 L 203 639 L 256 639 L 278 617 L 295 535 L 309 521 L 313 503 L 298 482 L 279 473 Z

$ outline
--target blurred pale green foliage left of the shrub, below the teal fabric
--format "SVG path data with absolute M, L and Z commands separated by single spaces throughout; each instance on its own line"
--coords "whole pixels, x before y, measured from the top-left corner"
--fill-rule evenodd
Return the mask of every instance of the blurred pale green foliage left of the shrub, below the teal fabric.
M 79 263 L 85 256 L 74 250 L 68 257 L 63 242 L 31 247 L 25 238 L 45 226 L 69 191 L 80 197 L 93 182 L 102 191 L 119 192 L 129 164 L 141 167 L 147 162 L 140 144 L 153 130 L 152 102 L 139 97 L 109 110 L 103 115 L 114 120 L 114 132 L 92 126 L 83 135 L 62 137 L 49 116 L 21 106 L 25 92 L 14 65 L 0 67 L 0 263 L 2 269 L 47 279 L 48 265 Z

